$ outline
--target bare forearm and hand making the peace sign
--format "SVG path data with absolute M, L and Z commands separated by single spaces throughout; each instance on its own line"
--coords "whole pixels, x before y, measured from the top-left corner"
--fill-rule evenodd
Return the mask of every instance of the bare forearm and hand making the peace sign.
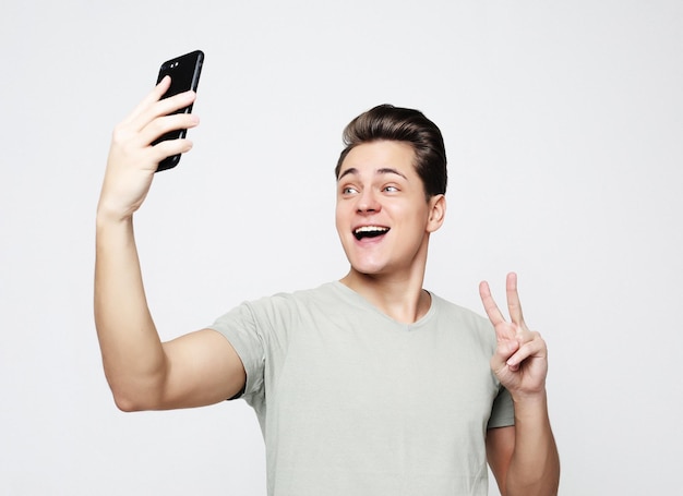
M 491 368 L 515 406 L 514 427 L 487 434 L 491 471 L 503 496 L 556 495 L 560 460 L 548 416 L 546 341 L 524 322 L 515 274 L 508 274 L 506 281 L 511 322 L 503 317 L 487 282 L 479 286 L 479 293 L 498 339 Z

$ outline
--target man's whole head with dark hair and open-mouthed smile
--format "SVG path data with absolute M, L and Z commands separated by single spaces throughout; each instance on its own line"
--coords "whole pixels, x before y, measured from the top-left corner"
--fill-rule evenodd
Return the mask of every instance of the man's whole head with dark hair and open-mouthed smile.
M 419 280 L 446 210 L 446 157 L 421 112 L 383 105 L 344 133 L 335 223 L 351 276 Z

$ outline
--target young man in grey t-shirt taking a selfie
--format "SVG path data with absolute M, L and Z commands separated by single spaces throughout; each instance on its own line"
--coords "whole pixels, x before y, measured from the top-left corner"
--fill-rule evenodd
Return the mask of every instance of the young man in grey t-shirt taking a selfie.
M 159 100 L 168 84 L 115 130 L 97 210 L 95 318 L 117 406 L 244 398 L 263 431 L 269 495 L 486 495 L 487 460 L 503 495 L 556 494 L 547 350 L 524 323 L 516 276 L 512 322 L 486 282 L 491 323 L 422 289 L 446 209 L 446 159 L 418 111 L 380 106 L 347 126 L 336 168 L 344 278 L 159 340 L 132 217 L 157 162 L 191 147 L 151 143 L 197 124 L 169 116 L 194 94 Z

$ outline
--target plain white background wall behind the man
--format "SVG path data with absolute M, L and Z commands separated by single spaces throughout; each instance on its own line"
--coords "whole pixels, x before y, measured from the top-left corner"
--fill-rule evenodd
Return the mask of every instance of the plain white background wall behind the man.
M 561 494 L 678 493 L 683 3 L 10 0 L 0 47 L 0 494 L 264 494 L 250 409 L 119 412 L 92 317 L 111 130 L 196 48 L 194 149 L 136 216 L 165 339 L 343 276 L 342 129 L 419 108 L 451 172 L 426 286 L 479 311 L 519 274 Z

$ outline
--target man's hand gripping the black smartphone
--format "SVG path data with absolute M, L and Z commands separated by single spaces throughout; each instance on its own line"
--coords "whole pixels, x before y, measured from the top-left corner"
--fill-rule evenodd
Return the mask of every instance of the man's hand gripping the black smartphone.
M 192 148 L 192 142 L 185 137 L 153 144 L 171 131 L 199 124 L 199 119 L 191 113 L 175 113 L 194 102 L 194 92 L 161 99 L 170 84 L 170 77 L 164 77 L 115 128 L 98 215 L 118 220 L 132 216 L 145 199 L 159 162 Z

